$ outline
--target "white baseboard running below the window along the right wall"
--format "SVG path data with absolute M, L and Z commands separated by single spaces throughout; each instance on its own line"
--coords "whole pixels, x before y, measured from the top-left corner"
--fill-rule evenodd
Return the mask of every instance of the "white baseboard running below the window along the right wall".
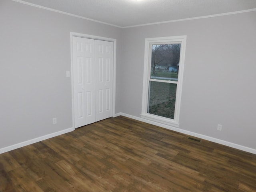
M 218 143 L 218 144 L 222 144 L 222 145 L 229 146 L 229 147 L 232 147 L 232 148 L 235 148 L 235 149 L 246 151 L 246 152 L 249 152 L 249 153 L 252 153 L 252 154 L 256 154 L 256 149 L 253 149 L 253 148 L 249 148 L 249 147 L 238 145 L 238 144 L 231 143 L 231 142 L 228 142 L 228 141 L 224 141 L 224 140 L 220 140 L 220 139 L 217 139 L 217 138 L 209 137 L 209 136 L 206 136 L 206 135 L 190 132 L 190 131 L 183 130 L 183 129 L 180 129 L 180 128 L 168 126 L 168 125 L 161 124 L 161 123 L 158 123 L 158 122 L 153 122 L 153 121 L 150 121 L 150 120 L 147 120 L 147 119 L 143 119 L 143 118 L 132 116 L 132 115 L 125 114 L 125 113 L 116 114 L 116 116 L 120 116 L 120 115 L 131 118 L 131 119 L 135 119 L 135 120 L 138 120 L 138 121 L 142 121 L 142 122 L 145 122 L 145 123 L 149 123 L 149 124 L 152 124 L 152 125 L 160 126 L 160 127 L 163 127 L 163 128 L 169 129 L 169 130 L 173 130 L 173 131 L 176 131 L 176 132 L 180 132 L 180 133 L 183 133 L 183 134 L 187 134 L 187 135 L 190 135 L 190 136 L 202 138 L 202 139 L 205 139 L 205 140 L 208 140 L 208 141 L 212 141 L 212 142 L 215 142 L 215 143 Z

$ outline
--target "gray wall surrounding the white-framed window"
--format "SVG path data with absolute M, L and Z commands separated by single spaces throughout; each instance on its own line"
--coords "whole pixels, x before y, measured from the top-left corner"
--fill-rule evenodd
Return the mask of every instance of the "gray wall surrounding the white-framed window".
M 256 149 L 256 11 L 124 29 L 120 111 L 140 117 L 145 38 L 180 35 L 180 128 Z

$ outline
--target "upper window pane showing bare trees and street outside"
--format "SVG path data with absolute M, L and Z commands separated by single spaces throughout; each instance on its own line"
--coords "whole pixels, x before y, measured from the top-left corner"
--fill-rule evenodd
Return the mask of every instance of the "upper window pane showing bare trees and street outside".
M 152 44 L 151 79 L 178 81 L 181 44 Z

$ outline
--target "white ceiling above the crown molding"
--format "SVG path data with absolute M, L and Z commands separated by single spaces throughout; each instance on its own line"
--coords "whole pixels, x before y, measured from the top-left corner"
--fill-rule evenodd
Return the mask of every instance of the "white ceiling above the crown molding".
M 128 27 L 253 9 L 256 0 L 15 0 Z

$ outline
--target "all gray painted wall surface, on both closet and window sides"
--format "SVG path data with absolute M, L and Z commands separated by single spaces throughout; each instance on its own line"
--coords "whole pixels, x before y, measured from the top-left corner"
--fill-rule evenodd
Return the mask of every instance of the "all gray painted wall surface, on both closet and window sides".
M 0 149 L 72 127 L 70 32 L 117 39 L 116 113 L 136 117 L 145 38 L 187 35 L 180 128 L 256 149 L 255 18 L 120 29 L 1 0 Z

